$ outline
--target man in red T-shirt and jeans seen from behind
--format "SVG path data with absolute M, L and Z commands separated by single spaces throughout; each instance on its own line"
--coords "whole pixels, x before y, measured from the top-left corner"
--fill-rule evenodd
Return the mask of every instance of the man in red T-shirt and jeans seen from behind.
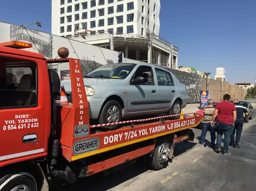
M 223 101 L 216 105 L 211 121 L 211 125 L 213 126 L 214 119 L 218 115 L 216 121 L 217 138 L 215 151 L 221 150 L 220 145 L 222 141 L 222 134 L 224 133 L 224 155 L 231 154 L 231 152 L 228 150 L 228 145 L 230 142 L 230 135 L 234 129 L 234 123 L 236 120 L 235 106 L 234 104 L 230 103 L 229 100 L 230 95 L 224 94 Z

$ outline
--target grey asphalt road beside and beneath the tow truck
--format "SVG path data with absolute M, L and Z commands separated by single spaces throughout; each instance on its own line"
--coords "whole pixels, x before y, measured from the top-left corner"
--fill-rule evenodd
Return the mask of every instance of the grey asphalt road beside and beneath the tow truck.
M 194 141 L 176 144 L 176 157 L 162 170 L 151 170 L 139 162 L 105 177 L 95 174 L 52 190 L 256 190 L 255 124 L 256 117 L 244 123 L 241 147 L 230 147 L 231 155 L 216 153 L 208 147 L 209 141 L 198 144 L 201 130 L 193 128 Z M 206 139 L 210 140 L 209 131 Z

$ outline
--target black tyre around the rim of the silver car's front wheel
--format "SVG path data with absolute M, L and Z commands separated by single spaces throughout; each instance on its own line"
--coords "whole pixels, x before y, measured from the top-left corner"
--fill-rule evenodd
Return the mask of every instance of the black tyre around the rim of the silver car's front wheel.
M 100 112 L 100 115 L 99 115 L 99 124 L 108 123 L 108 121 L 107 121 L 107 112 L 113 106 L 116 106 L 117 109 L 118 109 L 118 112 L 119 112 L 119 118 L 118 118 L 117 122 L 121 121 L 122 109 L 121 109 L 120 103 L 116 100 L 109 100 L 104 104 L 104 106 L 101 109 L 101 112 Z M 118 124 L 111 125 L 111 127 L 116 127 L 116 126 L 118 126 Z

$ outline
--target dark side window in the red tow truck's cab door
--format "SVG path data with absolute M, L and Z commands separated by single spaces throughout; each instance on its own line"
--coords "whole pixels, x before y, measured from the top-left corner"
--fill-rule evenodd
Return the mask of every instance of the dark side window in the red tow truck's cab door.
M 3 83 L 0 85 L 0 107 L 24 108 L 37 106 L 37 65 L 35 62 L 0 58 Z M 24 63 L 24 65 L 23 65 Z

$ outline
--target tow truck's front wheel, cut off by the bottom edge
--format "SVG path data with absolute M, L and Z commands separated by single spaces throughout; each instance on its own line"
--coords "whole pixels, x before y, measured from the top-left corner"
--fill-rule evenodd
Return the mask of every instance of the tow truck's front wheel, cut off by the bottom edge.
M 26 175 L 28 174 L 28 175 Z M 30 174 L 31 175 L 31 174 Z M 37 184 L 33 176 L 29 173 L 22 172 L 17 174 L 8 174 L 0 178 L 0 191 L 10 190 L 28 190 L 36 191 Z

